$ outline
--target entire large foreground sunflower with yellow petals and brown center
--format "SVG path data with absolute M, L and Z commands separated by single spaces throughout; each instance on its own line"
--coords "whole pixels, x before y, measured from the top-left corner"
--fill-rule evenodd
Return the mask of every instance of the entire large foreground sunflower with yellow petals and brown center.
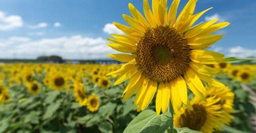
M 130 98 L 136 90 L 135 105 L 137 110 L 145 110 L 156 95 L 157 114 L 165 113 L 172 101 L 174 110 L 181 104 L 187 105 L 187 86 L 201 98 L 206 93 L 202 81 L 215 84 L 211 75 L 219 71 L 205 64 L 224 62 L 224 55 L 205 50 L 223 35 L 212 35 L 226 27 L 228 22 L 216 23 L 218 19 L 194 23 L 209 9 L 194 14 L 197 0 L 190 0 L 176 19 L 180 0 L 174 0 L 167 11 L 167 1 L 144 0 L 144 16 L 129 4 L 131 16 L 123 15 L 131 27 L 114 22 L 125 35 L 112 34 L 108 38 L 113 49 L 131 54 L 112 54 L 111 58 L 126 62 L 120 69 L 108 75 L 119 74 L 114 85 L 130 78 L 124 90 L 123 99 Z M 202 80 L 202 81 L 201 81 Z

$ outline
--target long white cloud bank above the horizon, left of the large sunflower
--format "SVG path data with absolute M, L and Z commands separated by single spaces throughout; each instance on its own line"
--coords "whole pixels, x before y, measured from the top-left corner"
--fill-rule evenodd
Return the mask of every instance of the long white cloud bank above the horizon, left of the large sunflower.
M 0 58 L 36 58 L 42 55 L 59 55 L 65 59 L 106 59 L 115 53 L 102 38 L 81 35 L 33 40 L 25 37 L 0 39 Z

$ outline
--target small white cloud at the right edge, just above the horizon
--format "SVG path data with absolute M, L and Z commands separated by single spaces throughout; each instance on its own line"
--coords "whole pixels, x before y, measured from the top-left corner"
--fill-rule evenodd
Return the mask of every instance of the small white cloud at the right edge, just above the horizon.
M 240 58 L 255 57 L 256 49 L 248 49 L 242 46 L 235 46 L 229 49 L 229 53 L 227 56 L 234 56 Z

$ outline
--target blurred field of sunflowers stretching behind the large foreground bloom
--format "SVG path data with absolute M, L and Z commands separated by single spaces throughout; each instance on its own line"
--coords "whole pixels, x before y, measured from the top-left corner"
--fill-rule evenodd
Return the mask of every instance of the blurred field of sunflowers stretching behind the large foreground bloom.
M 221 132 L 252 132 L 255 109 L 250 102 L 252 94 L 244 88 L 255 93 L 256 65 L 209 66 L 220 70 L 215 79 L 231 90 L 215 91 L 216 95 L 229 93 L 229 96 L 208 105 L 211 108 L 225 104 L 227 110 L 230 105 L 231 111 L 225 115 L 228 119 Z M 113 86 L 117 75 L 106 76 L 119 68 L 119 65 L 96 64 L 1 65 L 0 132 L 123 132 L 139 112 L 133 103 L 135 96 L 122 99 L 127 82 Z M 193 93 L 188 92 L 188 97 L 193 99 Z M 191 104 L 193 102 L 195 99 Z M 155 98 L 147 109 L 155 110 Z M 174 120 L 177 119 L 182 116 L 175 115 Z M 200 124 L 200 120 L 193 122 Z M 174 124 L 180 126 L 176 121 Z M 136 127 L 130 126 L 133 127 L 127 126 L 126 132 Z M 187 128 L 177 128 L 177 131 L 179 129 Z

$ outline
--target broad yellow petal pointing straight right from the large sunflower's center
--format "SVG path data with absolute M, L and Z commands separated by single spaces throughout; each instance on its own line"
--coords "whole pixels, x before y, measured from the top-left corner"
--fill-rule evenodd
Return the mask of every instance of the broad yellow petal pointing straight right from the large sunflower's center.
M 190 59 L 196 63 L 217 64 L 224 62 L 224 55 L 218 52 L 194 49 L 190 50 Z

